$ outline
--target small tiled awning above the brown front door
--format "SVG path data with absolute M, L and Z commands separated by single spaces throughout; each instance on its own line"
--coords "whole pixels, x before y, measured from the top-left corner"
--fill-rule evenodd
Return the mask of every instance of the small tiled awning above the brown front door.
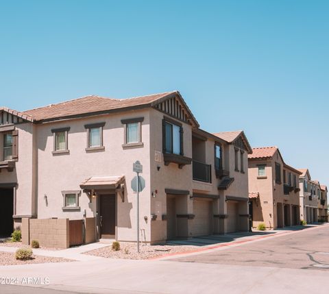
M 125 181 L 124 175 L 102 175 L 88 177 L 80 184 L 84 190 L 106 190 L 115 189 Z

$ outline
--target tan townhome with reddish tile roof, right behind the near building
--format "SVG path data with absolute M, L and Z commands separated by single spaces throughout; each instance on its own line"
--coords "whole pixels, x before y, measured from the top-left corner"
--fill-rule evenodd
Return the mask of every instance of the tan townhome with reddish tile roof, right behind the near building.
M 300 171 L 286 164 L 278 147 L 253 148 L 248 156 L 253 227 L 282 228 L 300 223 Z

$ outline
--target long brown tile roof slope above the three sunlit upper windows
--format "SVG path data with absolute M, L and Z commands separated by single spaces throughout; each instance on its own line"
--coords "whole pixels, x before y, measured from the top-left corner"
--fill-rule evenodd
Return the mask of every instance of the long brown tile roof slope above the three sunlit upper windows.
M 73 117 L 79 114 L 106 112 L 108 110 L 117 110 L 125 108 L 143 108 L 159 99 L 172 95 L 179 95 L 178 91 L 133 97 L 128 99 L 110 99 L 90 95 L 62 103 L 51 104 L 49 106 L 26 110 L 23 114 L 32 117 L 35 121 L 60 119 L 64 117 Z

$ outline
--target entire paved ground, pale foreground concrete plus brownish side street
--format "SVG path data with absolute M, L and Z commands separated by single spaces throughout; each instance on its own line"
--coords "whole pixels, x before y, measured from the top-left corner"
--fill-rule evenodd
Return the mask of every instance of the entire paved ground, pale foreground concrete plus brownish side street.
M 204 246 L 206 251 L 171 260 L 101 258 L 0 267 L 0 277 L 49 279 L 49 284 L 23 289 L 0 284 L 0 293 L 328 293 L 328 233 L 329 225 L 287 231 L 230 246 Z

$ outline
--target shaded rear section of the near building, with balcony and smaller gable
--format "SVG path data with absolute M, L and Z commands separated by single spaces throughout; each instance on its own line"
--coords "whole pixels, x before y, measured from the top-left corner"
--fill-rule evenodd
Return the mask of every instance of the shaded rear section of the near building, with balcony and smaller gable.
M 206 232 L 214 233 L 247 231 L 247 154 L 252 148 L 244 132 L 209 134 L 194 130 L 192 136 L 193 213 L 197 234 L 205 234 L 205 228 L 208 228 Z

